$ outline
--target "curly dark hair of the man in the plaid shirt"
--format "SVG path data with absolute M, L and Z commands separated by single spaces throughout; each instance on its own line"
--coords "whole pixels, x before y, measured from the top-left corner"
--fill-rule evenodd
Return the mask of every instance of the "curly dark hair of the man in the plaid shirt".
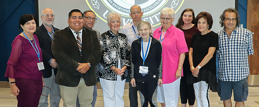
M 239 23 L 240 23 L 238 11 L 237 11 L 236 9 L 234 9 L 234 8 L 228 8 L 228 9 L 225 9 L 225 10 L 223 11 L 223 13 L 222 13 L 222 14 L 220 15 L 220 17 L 219 17 L 219 18 L 220 18 L 219 23 L 221 24 L 221 27 L 224 26 L 224 20 L 225 20 L 225 13 L 226 13 L 226 12 L 229 12 L 229 13 L 234 12 L 234 13 L 235 13 L 235 19 L 236 19 L 236 25 L 235 25 L 235 26 L 238 26 Z

